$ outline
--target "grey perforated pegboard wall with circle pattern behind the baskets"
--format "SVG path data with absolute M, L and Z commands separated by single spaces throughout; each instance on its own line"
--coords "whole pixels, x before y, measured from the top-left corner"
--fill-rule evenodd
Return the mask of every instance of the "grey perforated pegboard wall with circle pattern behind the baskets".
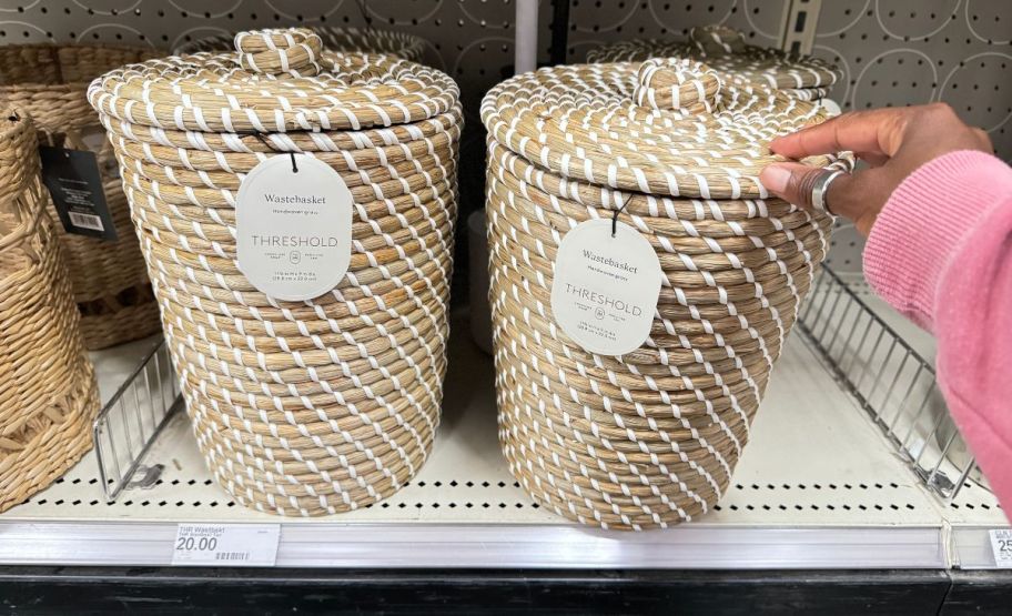
M 169 49 L 190 39 L 289 24 L 404 30 L 428 41 L 426 62 L 461 84 L 462 215 L 482 206 L 485 91 L 509 73 L 516 0 L 0 0 L 0 44 L 104 41 Z M 568 58 L 630 38 L 681 37 L 725 23 L 753 44 L 778 46 L 790 0 L 571 0 Z M 931 101 L 952 104 L 989 130 L 1012 159 L 1012 2 L 1002 0 L 822 1 L 813 51 L 844 78 L 844 109 Z M 542 0 L 539 51 L 548 59 L 550 3 Z M 462 239 L 466 234 L 461 234 Z M 863 242 L 841 229 L 830 262 L 860 267 Z M 463 254 L 463 253 L 462 253 Z M 463 267 L 457 269 L 458 273 Z

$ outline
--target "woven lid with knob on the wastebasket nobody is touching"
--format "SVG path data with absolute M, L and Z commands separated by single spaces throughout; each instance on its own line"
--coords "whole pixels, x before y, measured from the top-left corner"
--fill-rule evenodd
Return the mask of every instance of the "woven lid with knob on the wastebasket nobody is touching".
M 446 113 L 459 98 L 435 69 L 325 51 L 304 28 L 240 32 L 235 49 L 129 64 L 94 80 L 89 100 L 131 124 L 266 133 L 412 124 Z

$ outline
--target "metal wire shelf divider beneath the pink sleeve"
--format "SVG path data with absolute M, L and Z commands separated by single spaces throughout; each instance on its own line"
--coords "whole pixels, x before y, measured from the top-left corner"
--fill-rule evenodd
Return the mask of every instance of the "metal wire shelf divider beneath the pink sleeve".
M 931 363 L 828 266 L 798 325 L 923 484 L 953 498 L 976 465 Z

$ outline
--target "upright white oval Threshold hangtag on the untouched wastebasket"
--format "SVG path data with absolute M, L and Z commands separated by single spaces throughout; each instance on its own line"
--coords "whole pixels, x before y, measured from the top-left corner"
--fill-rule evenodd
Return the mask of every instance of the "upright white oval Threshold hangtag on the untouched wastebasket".
M 261 292 L 312 300 L 337 286 L 352 260 L 352 192 L 326 163 L 272 156 L 239 189 L 239 269 Z

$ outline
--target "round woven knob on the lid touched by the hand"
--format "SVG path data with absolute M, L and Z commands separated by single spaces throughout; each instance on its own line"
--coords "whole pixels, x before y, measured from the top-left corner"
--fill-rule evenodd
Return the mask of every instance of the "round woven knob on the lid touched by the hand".
M 652 58 L 639 67 L 632 98 L 639 107 L 712 113 L 720 78 L 702 62 L 687 58 Z

